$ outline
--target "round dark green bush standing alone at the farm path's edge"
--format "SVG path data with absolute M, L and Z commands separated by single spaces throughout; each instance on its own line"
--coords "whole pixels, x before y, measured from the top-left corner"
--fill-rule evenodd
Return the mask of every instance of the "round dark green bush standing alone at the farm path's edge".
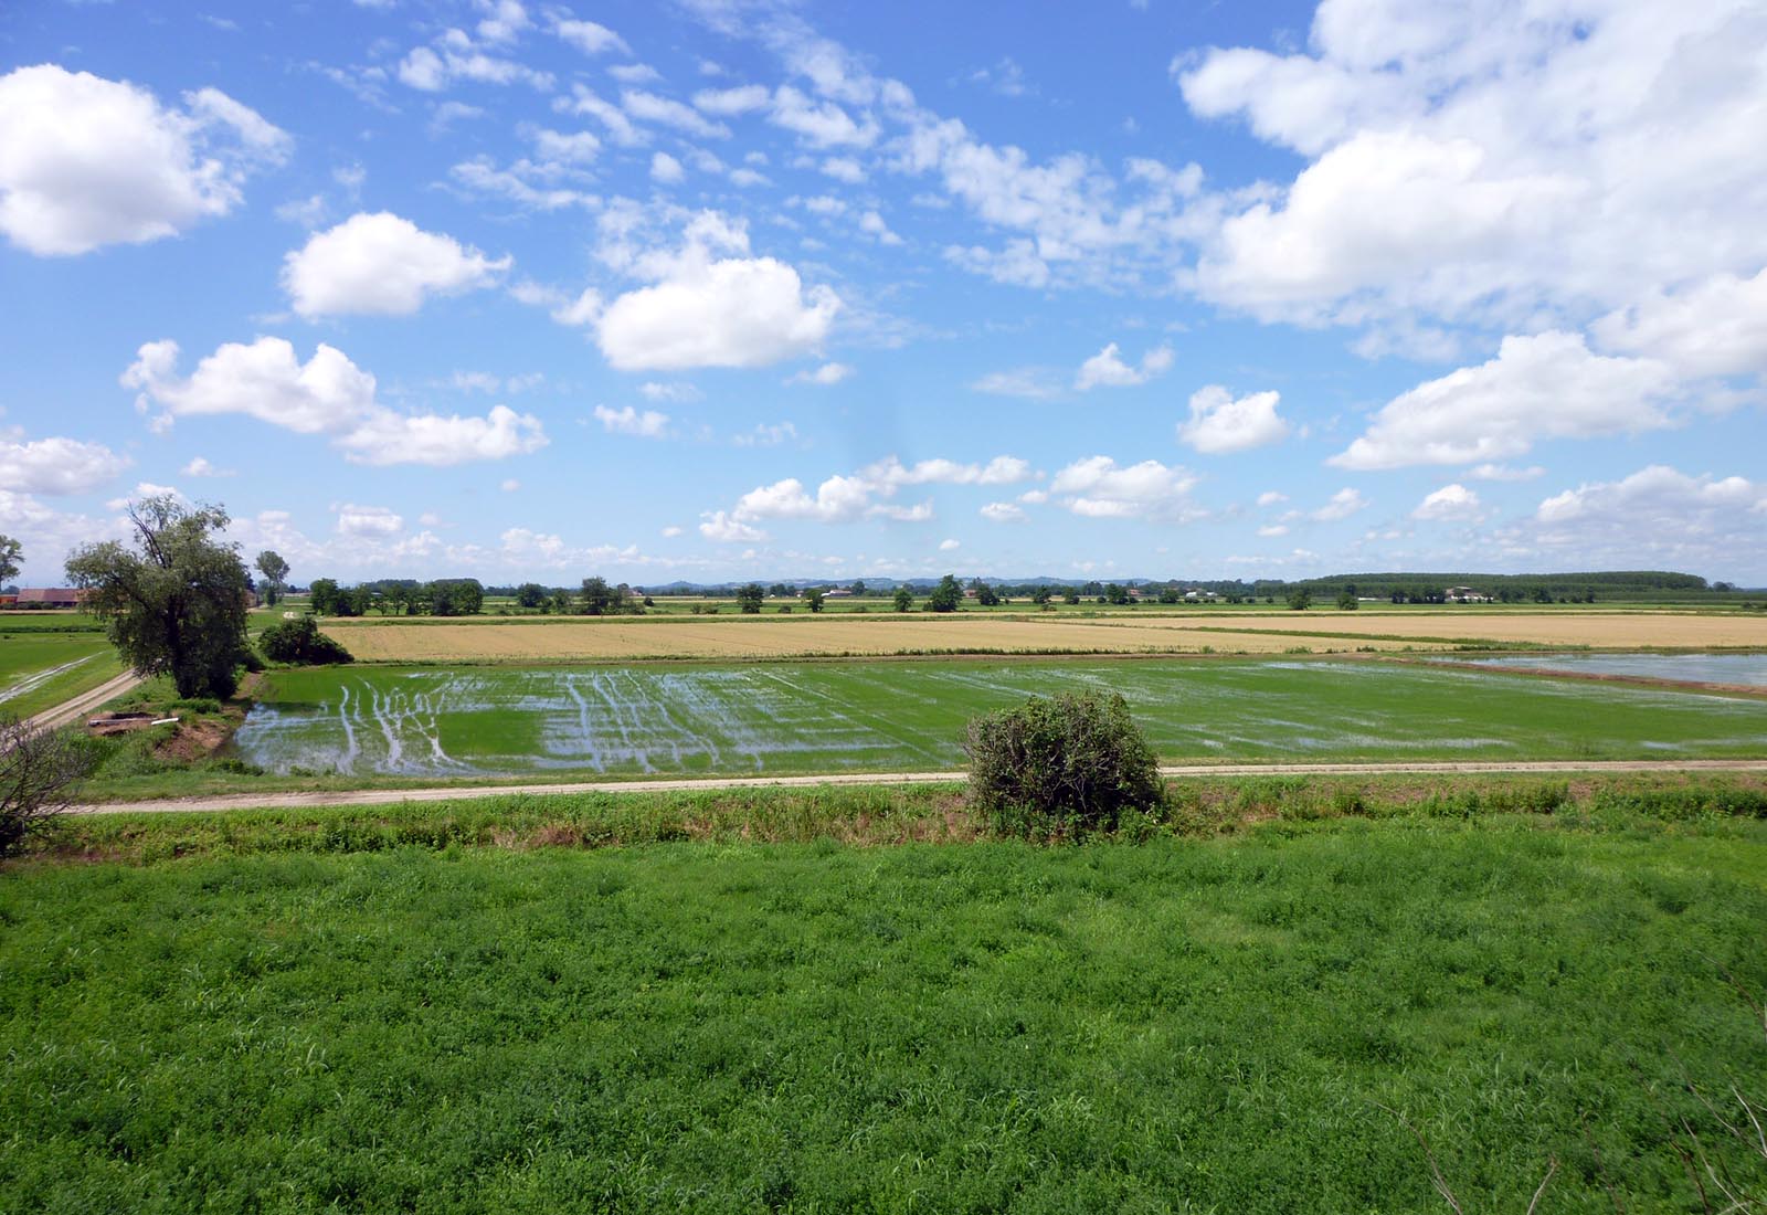
M 1122 696 L 1034 696 L 970 721 L 970 802 L 997 832 L 1110 832 L 1127 809 L 1164 807 L 1154 752 Z

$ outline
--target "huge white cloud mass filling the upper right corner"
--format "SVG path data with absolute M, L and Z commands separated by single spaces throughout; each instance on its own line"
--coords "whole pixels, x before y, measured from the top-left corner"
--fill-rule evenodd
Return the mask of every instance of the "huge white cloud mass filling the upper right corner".
M 1756 274 L 1763 37 L 1735 0 L 1325 0 L 1308 53 L 1180 60 L 1193 113 L 1309 161 L 1230 203 L 1193 286 L 1269 320 L 1537 328 Z

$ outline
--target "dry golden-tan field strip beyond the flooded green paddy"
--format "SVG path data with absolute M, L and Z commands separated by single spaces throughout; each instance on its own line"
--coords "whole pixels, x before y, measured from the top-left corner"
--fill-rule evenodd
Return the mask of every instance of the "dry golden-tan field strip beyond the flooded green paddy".
M 507 620 L 327 620 L 357 659 L 375 662 L 537 662 L 733 659 L 956 652 L 1315 653 L 1550 645 L 1603 648 L 1767 648 L 1767 615 L 1689 611 L 1216 613 L 1124 609 L 1076 616 L 959 613 L 841 616 L 532 616 Z

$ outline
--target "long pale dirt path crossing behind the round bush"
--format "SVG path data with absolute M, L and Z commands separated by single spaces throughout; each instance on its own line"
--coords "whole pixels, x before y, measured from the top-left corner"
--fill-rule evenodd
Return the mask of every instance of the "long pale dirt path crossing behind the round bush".
M 1527 763 L 1210 763 L 1163 766 L 1164 777 L 1246 775 L 1571 775 L 1624 772 L 1767 772 L 1767 759 L 1543 759 Z M 806 788 L 829 784 L 940 784 L 965 772 L 868 772 L 800 777 L 723 777 L 670 781 L 580 781 L 573 784 L 481 784 L 424 789 L 329 789 L 320 793 L 231 793 L 226 796 L 161 798 L 72 805 L 69 814 L 191 814 L 223 811 L 297 811 L 401 802 L 468 802 L 491 796 L 555 796 L 571 793 L 693 793 L 719 789 Z

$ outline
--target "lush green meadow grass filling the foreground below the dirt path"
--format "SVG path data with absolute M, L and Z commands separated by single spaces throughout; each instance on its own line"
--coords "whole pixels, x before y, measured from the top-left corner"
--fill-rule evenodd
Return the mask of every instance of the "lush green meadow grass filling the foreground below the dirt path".
M 1762 823 L 30 862 L 0 1194 L 1445 1210 L 1385 1106 L 1468 1211 L 1550 1158 L 1543 1211 L 1698 1210 L 1666 1118 L 1760 1095 L 1763 922 Z

